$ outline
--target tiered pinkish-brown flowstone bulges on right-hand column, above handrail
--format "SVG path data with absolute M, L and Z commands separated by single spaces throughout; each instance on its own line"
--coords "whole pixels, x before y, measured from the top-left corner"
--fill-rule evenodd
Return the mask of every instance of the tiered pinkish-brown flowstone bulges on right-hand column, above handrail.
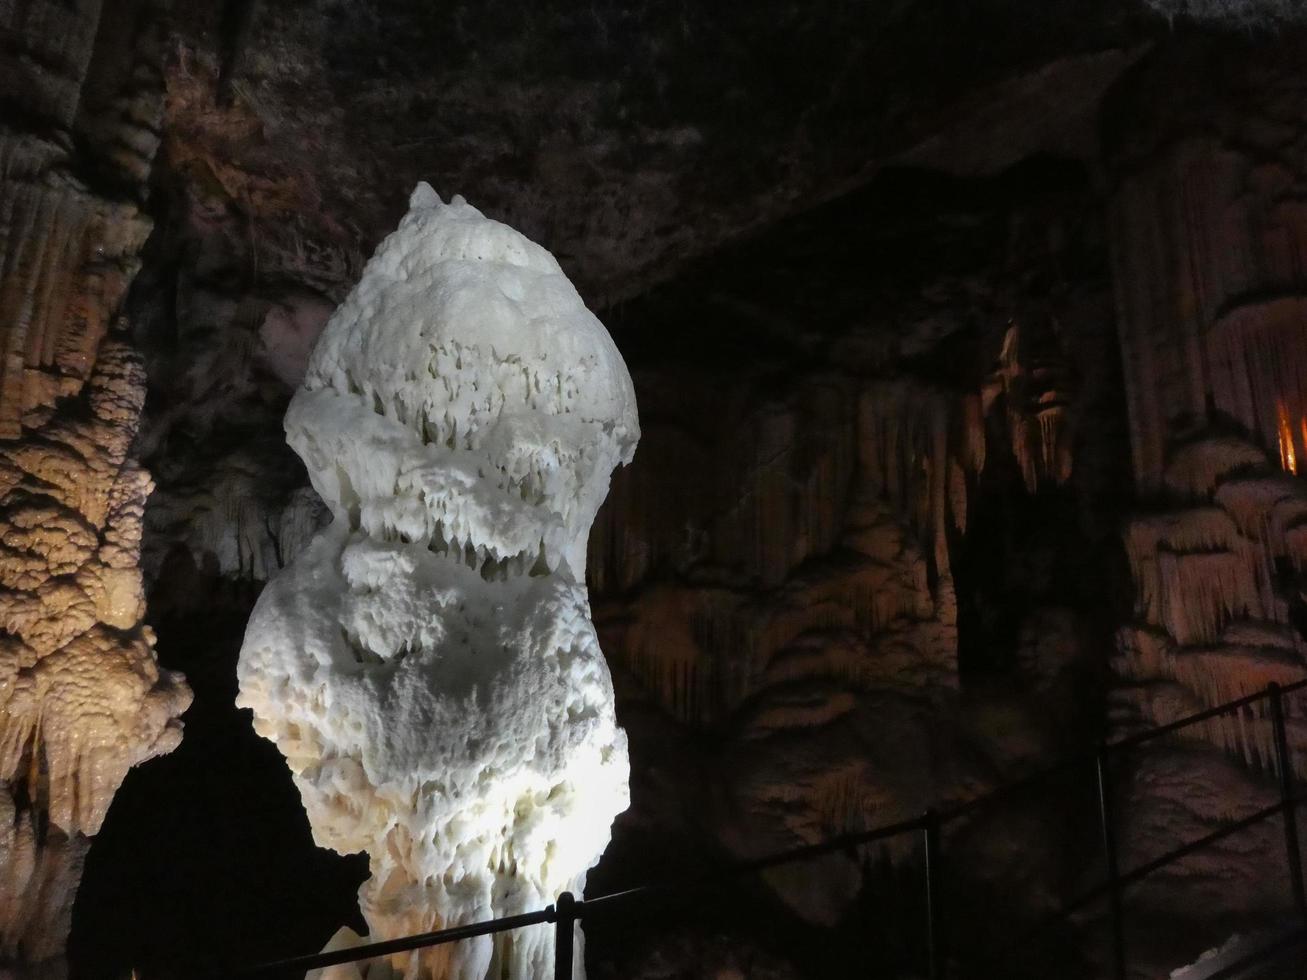
M 1197 489 L 1193 470 L 1212 478 L 1205 493 L 1175 495 L 1170 510 L 1134 517 L 1125 532 L 1136 622 L 1120 635 L 1117 668 L 1129 685 L 1119 695 L 1149 724 L 1307 673 L 1307 648 L 1290 619 L 1295 596 L 1283 581 L 1307 559 L 1294 532 L 1307 516 L 1307 485 L 1272 472 L 1255 446 L 1230 436 L 1176 452 L 1166 482 Z M 1128 727 L 1132 712 L 1119 721 Z M 1265 704 L 1195 730 L 1251 766 L 1273 754 Z M 1297 741 L 1307 749 L 1307 738 Z

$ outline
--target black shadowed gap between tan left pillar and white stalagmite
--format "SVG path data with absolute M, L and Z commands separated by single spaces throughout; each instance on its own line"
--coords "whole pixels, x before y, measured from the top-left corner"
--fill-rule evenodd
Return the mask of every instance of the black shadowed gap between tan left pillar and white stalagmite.
M 222 976 L 315 953 L 341 925 L 363 930 L 366 857 L 314 845 L 285 760 L 235 708 L 251 597 L 191 584 L 195 608 L 156 621 L 159 661 L 195 691 L 186 737 L 114 797 L 77 895 L 74 980 Z

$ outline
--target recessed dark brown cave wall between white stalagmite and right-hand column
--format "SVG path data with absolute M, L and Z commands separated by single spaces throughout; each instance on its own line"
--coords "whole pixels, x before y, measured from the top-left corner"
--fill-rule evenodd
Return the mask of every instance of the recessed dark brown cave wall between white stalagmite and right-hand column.
M 589 571 L 654 771 L 637 767 L 629 835 L 759 856 L 970 798 L 1094 737 L 1115 622 L 1090 570 L 1116 546 L 1128 455 L 1084 169 L 887 174 L 613 323 L 644 435 Z M 693 775 L 667 775 L 686 743 Z M 987 819 L 982 838 L 1006 840 L 1012 814 Z M 1025 858 L 972 844 L 970 864 L 1048 875 L 1078 827 L 1022 832 Z M 771 887 L 838 928 L 882 874 L 833 856 Z

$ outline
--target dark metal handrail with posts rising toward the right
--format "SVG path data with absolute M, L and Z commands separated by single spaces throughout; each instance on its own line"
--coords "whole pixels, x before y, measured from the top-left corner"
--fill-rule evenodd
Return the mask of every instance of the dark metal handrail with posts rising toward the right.
M 541 925 L 546 923 L 553 923 L 557 930 L 555 937 L 555 977 L 557 980 L 571 980 L 572 977 L 572 959 L 574 959 L 574 924 L 584 920 L 587 913 L 599 911 L 605 907 L 622 906 L 629 902 L 640 902 L 656 898 L 667 892 L 674 892 L 676 895 L 685 898 L 686 892 L 703 891 L 710 887 L 719 887 L 724 883 L 735 881 L 737 878 L 755 874 L 769 868 L 776 868 L 786 864 L 793 864 L 799 861 L 810 860 L 813 857 L 821 857 L 829 853 L 836 853 L 840 851 L 853 851 L 865 844 L 876 843 L 878 840 L 887 840 L 890 838 L 897 838 L 903 834 L 920 832 L 923 835 L 923 849 L 924 849 L 924 887 L 925 887 L 925 908 L 927 908 L 927 942 L 929 951 L 929 976 L 931 980 L 944 980 L 948 976 L 948 951 L 944 934 L 944 902 L 942 902 L 942 870 L 940 865 L 940 857 L 942 848 L 940 847 L 940 834 L 941 830 L 966 815 L 972 810 L 991 804 L 1001 797 L 1009 796 L 1013 792 L 1023 788 L 1035 785 L 1053 775 L 1069 771 L 1078 764 L 1084 764 L 1089 758 L 1093 758 L 1095 763 L 1097 776 L 1098 776 L 1098 789 L 1099 789 L 1099 821 L 1103 838 L 1103 851 L 1104 851 L 1104 864 L 1107 870 L 1106 879 L 1084 892 L 1078 898 L 1069 903 L 1063 904 L 1056 912 L 1053 912 L 1048 919 L 1042 920 L 1040 925 L 1029 933 L 1025 933 L 1022 939 L 1012 943 L 1002 950 L 982 958 L 982 963 L 1001 962 L 1006 955 L 1013 953 L 1019 946 L 1023 946 L 1030 939 L 1035 938 L 1039 932 L 1043 932 L 1048 926 L 1052 926 L 1060 921 L 1067 921 L 1069 917 L 1080 911 L 1081 908 L 1089 906 L 1097 899 L 1107 895 L 1111 899 L 1111 913 L 1112 913 L 1112 966 L 1116 977 L 1123 979 L 1125 976 L 1125 943 L 1124 943 L 1124 911 L 1121 903 L 1121 892 L 1129 885 L 1141 881 L 1144 877 L 1159 870 L 1175 861 L 1179 861 L 1196 851 L 1200 851 L 1210 844 L 1223 840 L 1233 834 L 1238 834 L 1242 830 L 1255 826 L 1263 821 L 1270 819 L 1277 814 L 1283 814 L 1285 817 L 1285 851 L 1289 861 L 1290 882 L 1293 889 L 1294 907 L 1304 921 L 1307 921 L 1307 899 L 1303 895 L 1303 877 L 1302 877 L 1302 857 L 1298 844 L 1298 827 L 1294 819 L 1295 808 L 1299 804 L 1307 802 L 1307 797 L 1295 796 L 1293 793 L 1293 767 L 1289 755 L 1287 737 L 1285 729 L 1285 715 L 1283 715 L 1283 696 L 1286 694 L 1293 694 L 1300 690 L 1307 690 L 1307 678 L 1297 681 L 1290 685 L 1281 686 L 1278 683 L 1270 683 L 1264 691 L 1246 695 L 1225 704 L 1218 704 L 1213 708 L 1196 712 L 1193 715 L 1178 719 L 1165 725 L 1158 725 L 1155 728 L 1148 729 L 1146 732 L 1140 732 L 1125 738 L 1116 740 L 1115 742 L 1104 742 L 1099 746 L 1098 751 L 1093 757 L 1085 754 L 1072 757 L 1063 763 L 1052 766 L 1050 768 L 1040 770 L 1038 772 L 1030 774 L 1022 779 L 1009 783 L 1004 787 L 975 797 L 974 800 L 954 805 L 942 810 L 927 810 L 920 817 L 898 821 L 895 823 L 884 825 L 881 827 L 874 827 L 867 831 L 842 834 L 836 838 L 819 841 L 817 844 L 805 844 L 802 847 L 792 848 L 789 851 L 783 851 L 775 855 L 767 855 L 765 857 L 754 858 L 752 861 L 741 861 L 720 869 L 715 873 L 706 873 L 698 875 L 689 881 L 680 882 L 661 882 L 661 883 L 648 883 L 640 885 L 631 889 L 623 889 L 621 891 L 609 892 L 605 895 L 599 895 L 591 899 L 576 899 L 571 892 L 563 892 L 558 896 L 558 902 L 548 908 L 527 912 L 516 916 L 506 916 L 503 919 L 491 919 L 482 923 L 473 923 L 469 925 L 452 926 L 450 929 L 440 929 L 437 932 L 422 933 L 418 936 L 409 936 L 399 939 L 387 939 L 383 942 L 372 942 L 363 946 L 354 946 L 344 950 L 333 950 L 331 953 L 316 953 L 302 956 L 291 956 L 288 959 L 280 959 L 271 963 L 264 963 L 250 970 L 238 972 L 238 977 L 256 977 L 268 976 L 273 973 L 282 972 L 301 972 L 307 970 L 316 970 L 328 966 L 339 966 L 342 963 L 357 962 L 362 959 L 374 959 L 378 956 L 391 955 L 395 953 L 406 953 L 417 949 L 426 949 L 431 946 L 439 946 L 448 942 L 457 942 L 460 939 L 468 939 L 478 936 L 490 936 L 501 932 L 510 932 L 514 929 L 521 929 L 531 925 Z M 1280 802 L 1265 806 L 1256 813 L 1248 814 L 1247 817 L 1236 821 L 1233 825 L 1221 827 L 1210 834 L 1199 838 L 1197 840 L 1188 841 L 1180 847 L 1157 857 L 1145 864 L 1127 872 L 1120 873 L 1117 868 L 1117 848 L 1115 841 L 1115 834 L 1112 831 L 1112 800 L 1111 800 L 1111 779 L 1108 774 L 1108 762 L 1111 755 L 1123 750 L 1133 749 L 1154 738 L 1159 738 L 1165 734 L 1178 732 L 1189 725 L 1201 724 L 1213 717 L 1229 713 L 1231 711 L 1238 711 L 1248 704 L 1257 703 L 1260 700 L 1270 702 L 1270 721 L 1273 727 L 1273 741 L 1276 750 L 1276 768 L 1278 774 L 1280 783 Z

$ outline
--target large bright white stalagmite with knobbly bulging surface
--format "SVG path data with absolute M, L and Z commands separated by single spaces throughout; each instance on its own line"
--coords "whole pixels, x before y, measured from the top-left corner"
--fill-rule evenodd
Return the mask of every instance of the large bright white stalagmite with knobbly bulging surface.
M 639 439 L 603 324 L 548 251 L 420 184 L 286 436 L 335 520 L 260 597 L 238 703 L 316 841 L 367 851 L 372 938 L 579 892 L 629 802 L 586 593 L 591 523 Z M 365 975 L 535 979 L 552 959 L 536 926 Z

